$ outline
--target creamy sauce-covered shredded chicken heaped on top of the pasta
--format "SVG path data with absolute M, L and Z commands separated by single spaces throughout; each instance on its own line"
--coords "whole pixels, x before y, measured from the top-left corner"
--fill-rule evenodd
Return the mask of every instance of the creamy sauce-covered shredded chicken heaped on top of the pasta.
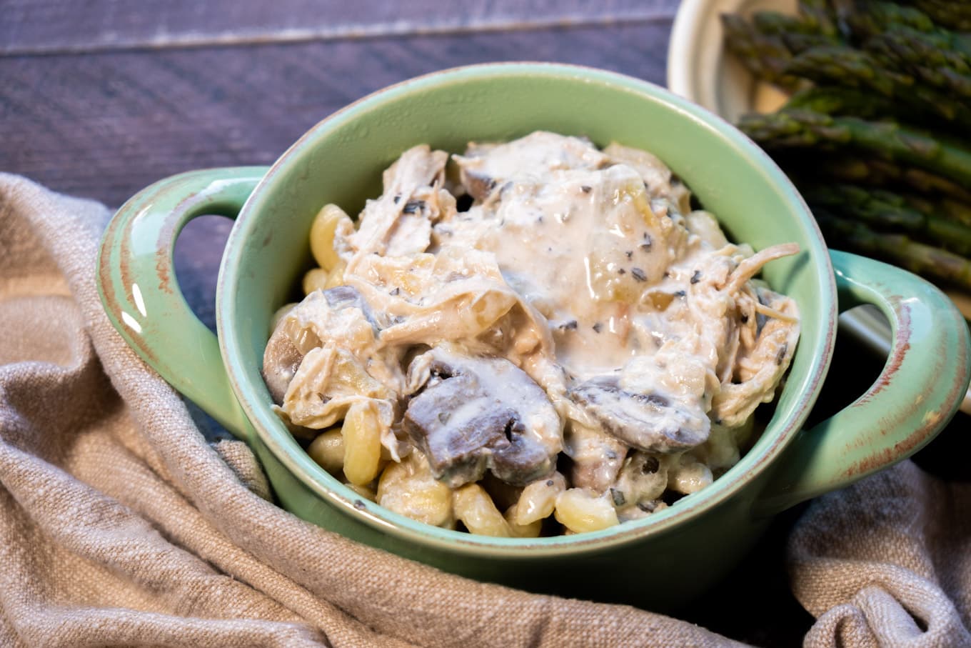
M 751 279 L 798 249 L 754 254 L 728 243 L 710 214 L 689 211 L 687 189 L 660 160 L 617 144 L 600 151 L 539 131 L 452 158 L 458 184 L 447 180 L 445 153 L 403 153 L 358 228 L 337 229 L 343 283 L 374 321 L 360 309 L 331 312 L 312 294 L 274 335 L 307 358 L 320 346 L 341 350 L 363 373 L 349 383 L 301 366 L 285 414 L 332 425 L 354 398 L 377 399 L 383 441 L 398 457 L 402 403 L 428 380 L 414 368 L 406 379 L 408 362 L 447 347 L 505 358 L 543 388 L 559 421 L 533 433 L 571 457 L 575 486 L 613 493 L 633 483 L 631 449 L 641 462 L 671 455 L 653 461 L 662 470 L 654 481 L 670 470 L 669 488 L 681 492 L 726 467 L 707 458 L 737 460 L 725 444 L 741 435 L 730 430 L 771 399 L 799 333 L 795 303 Z M 465 212 L 453 197 L 462 193 L 474 198 Z M 706 443 L 713 423 L 718 452 Z M 634 490 L 657 496 L 655 486 Z M 615 502 L 639 504 L 622 494 Z

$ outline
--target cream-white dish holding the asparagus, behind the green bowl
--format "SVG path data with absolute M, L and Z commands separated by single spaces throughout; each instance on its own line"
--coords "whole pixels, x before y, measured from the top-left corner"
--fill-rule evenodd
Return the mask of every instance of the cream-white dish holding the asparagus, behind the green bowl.
M 749 15 L 762 10 L 794 14 L 796 0 L 684 0 L 668 46 L 668 88 L 732 123 L 745 113 L 770 112 L 782 106 L 786 95 L 771 85 L 755 82 L 723 47 L 721 14 Z M 952 297 L 967 317 L 971 312 L 966 310 L 967 298 Z M 874 353 L 889 353 L 890 326 L 875 307 L 860 306 L 842 314 L 840 328 Z M 961 403 L 961 411 L 971 414 L 971 390 Z

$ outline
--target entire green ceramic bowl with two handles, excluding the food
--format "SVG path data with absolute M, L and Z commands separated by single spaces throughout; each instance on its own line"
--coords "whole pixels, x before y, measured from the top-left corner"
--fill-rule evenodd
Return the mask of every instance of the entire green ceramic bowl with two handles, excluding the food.
M 324 203 L 356 213 L 409 147 L 460 152 L 470 140 L 536 129 L 649 150 L 731 237 L 756 249 L 795 241 L 764 277 L 794 297 L 802 339 L 753 449 L 712 486 L 613 529 L 539 539 L 428 527 L 362 500 L 324 472 L 270 410 L 259 367 L 273 312 L 293 292 Z M 189 311 L 172 251 L 188 220 L 236 218 L 218 283 L 218 339 Z M 188 398 L 251 445 L 281 505 L 355 540 L 473 578 L 573 597 L 671 609 L 733 566 L 771 516 L 916 452 L 954 414 L 969 376 L 968 334 L 951 302 L 883 263 L 826 250 L 783 173 L 728 123 L 655 85 L 593 69 L 513 63 L 420 77 L 324 119 L 269 169 L 192 171 L 128 201 L 105 235 L 102 297 L 126 340 Z M 894 330 L 877 383 L 810 429 L 836 316 L 879 307 Z

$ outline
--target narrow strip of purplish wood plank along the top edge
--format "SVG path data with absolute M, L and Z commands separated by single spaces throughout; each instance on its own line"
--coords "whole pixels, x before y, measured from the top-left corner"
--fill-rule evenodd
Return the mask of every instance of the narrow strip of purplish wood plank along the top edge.
M 5 0 L 0 53 L 280 43 L 360 36 L 634 23 L 678 0 Z

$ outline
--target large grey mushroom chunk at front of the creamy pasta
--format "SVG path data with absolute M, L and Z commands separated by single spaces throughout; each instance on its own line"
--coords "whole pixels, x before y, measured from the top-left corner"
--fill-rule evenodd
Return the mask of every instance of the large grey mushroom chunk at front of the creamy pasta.
M 412 362 L 409 384 L 424 388 L 409 403 L 403 428 L 450 487 L 486 470 L 524 486 L 555 467 L 559 417 L 546 392 L 509 360 L 437 348 Z

